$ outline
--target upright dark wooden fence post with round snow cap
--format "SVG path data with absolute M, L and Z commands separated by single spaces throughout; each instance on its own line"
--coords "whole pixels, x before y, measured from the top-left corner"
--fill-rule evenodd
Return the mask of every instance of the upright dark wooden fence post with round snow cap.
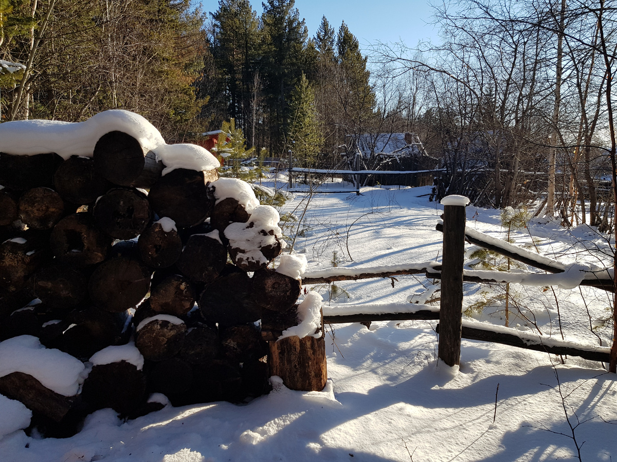
M 469 199 L 450 195 L 444 197 L 441 203 L 444 206 L 444 247 L 439 304 L 439 358 L 453 366 L 460 363 L 465 206 Z

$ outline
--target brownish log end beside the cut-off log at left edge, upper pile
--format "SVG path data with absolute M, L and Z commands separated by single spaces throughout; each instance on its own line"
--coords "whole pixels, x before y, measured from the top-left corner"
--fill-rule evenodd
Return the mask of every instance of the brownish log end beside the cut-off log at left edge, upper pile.
M 19 219 L 29 228 L 52 229 L 65 213 L 64 200 L 51 188 L 27 190 L 19 198 Z M 73 209 L 73 212 L 75 209 Z

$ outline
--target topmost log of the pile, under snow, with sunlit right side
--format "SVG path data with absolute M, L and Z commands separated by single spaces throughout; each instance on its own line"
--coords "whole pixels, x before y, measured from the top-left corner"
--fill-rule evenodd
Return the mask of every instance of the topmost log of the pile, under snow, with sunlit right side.
M 122 131 L 104 134 L 94 146 L 94 170 L 118 186 L 149 188 L 165 168 L 154 152 Z

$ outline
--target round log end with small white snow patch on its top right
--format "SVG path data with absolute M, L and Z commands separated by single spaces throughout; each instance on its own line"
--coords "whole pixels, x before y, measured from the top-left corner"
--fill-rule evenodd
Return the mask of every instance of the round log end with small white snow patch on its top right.
M 155 269 L 168 268 L 175 264 L 182 253 L 182 240 L 174 229 L 165 230 L 155 222 L 139 235 L 139 256 Z

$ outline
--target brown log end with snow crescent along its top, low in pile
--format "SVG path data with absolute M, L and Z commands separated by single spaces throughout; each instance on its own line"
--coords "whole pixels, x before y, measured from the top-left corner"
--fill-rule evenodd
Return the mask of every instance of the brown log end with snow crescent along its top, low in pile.
M 144 319 L 136 329 L 135 346 L 149 361 L 174 357 L 184 344 L 186 324 L 175 316 L 159 314 Z

